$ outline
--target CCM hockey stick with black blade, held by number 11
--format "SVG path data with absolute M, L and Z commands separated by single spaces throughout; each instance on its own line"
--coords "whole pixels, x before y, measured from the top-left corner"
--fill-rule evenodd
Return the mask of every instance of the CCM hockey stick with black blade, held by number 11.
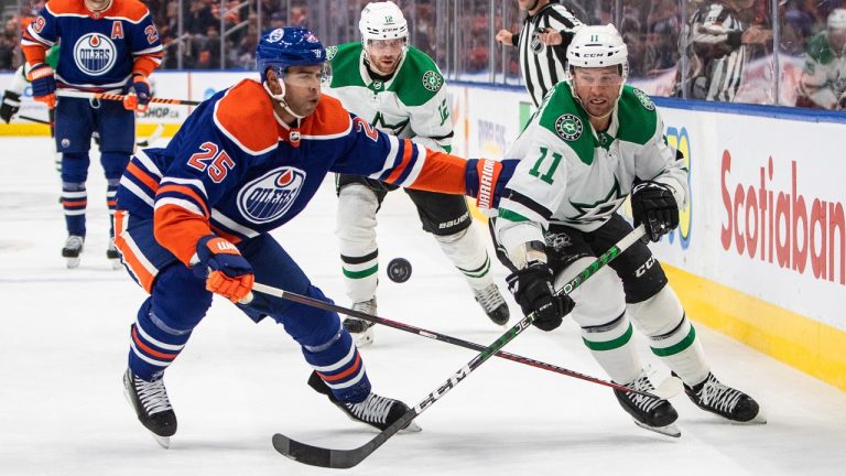
M 574 289 L 578 288 L 592 275 L 608 264 L 611 260 L 617 258 L 622 251 L 628 249 L 631 245 L 637 242 L 646 235 L 643 226 L 634 228 L 631 232 L 626 235 L 617 245 L 611 246 L 608 251 L 604 252 L 594 262 L 588 264 L 587 268 L 573 278 L 558 293 L 571 293 Z M 476 357 L 474 357 L 467 365 L 462 367 L 457 372 L 449 377 L 444 383 L 442 383 L 436 390 L 431 392 L 424 398 L 416 407 L 409 409 L 402 416 L 400 416 L 393 424 L 382 430 L 378 435 L 371 439 L 369 442 L 361 446 L 351 450 L 335 450 L 321 446 L 313 446 L 306 443 L 301 443 L 296 440 L 292 440 L 283 434 L 276 433 L 273 435 L 273 447 L 281 454 L 288 456 L 296 462 L 328 468 L 350 468 L 361 463 L 366 457 L 370 456 L 376 450 L 378 450 L 384 442 L 391 436 L 397 434 L 400 430 L 408 426 L 417 415 L 423 413 L 427 408 L 445 396 L 449 390 L 455 388 L 462 380 L 476 370 L 481 364 L 494 356 L 500 348 L 511 342 L 520 333 L 525 331 L 534 321 L 534 313 L 523 317 L 520 322 L 514 324 L 513 327 L 502 334 L 494 344 L 481 350 Z

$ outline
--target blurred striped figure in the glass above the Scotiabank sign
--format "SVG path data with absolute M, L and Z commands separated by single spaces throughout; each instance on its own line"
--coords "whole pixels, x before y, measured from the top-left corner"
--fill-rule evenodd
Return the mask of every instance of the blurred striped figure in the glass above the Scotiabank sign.
M 683 35 L 690 64 L 688 98 L 733 101 L 747 61 L 740 37 L 746 24 L 736 12 L 713 2 L 691 17 Z

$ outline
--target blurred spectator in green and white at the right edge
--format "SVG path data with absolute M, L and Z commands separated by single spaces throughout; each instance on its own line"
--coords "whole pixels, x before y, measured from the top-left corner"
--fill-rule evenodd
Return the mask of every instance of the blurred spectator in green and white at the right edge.
M 846 9 L 834 9 L 826 29 L 805 46 L 800 87 L 810 107 L 846 109 Z

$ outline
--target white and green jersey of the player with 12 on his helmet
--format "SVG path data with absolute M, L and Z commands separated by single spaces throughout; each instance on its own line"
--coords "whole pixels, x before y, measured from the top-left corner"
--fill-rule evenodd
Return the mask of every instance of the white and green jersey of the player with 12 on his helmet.
M 453 121 L 444 77 L 425 53 L 409 46 L 387 82 L 370 77 L 359 42 L 330 46 L 326 55 L 332 62 L 329 94 L 350 112 L 379 130 L 449 151 Z

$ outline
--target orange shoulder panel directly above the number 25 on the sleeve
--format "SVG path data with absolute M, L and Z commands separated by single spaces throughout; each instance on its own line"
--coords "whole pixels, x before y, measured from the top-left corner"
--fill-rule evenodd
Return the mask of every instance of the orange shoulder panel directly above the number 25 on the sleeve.
M 245 152 L 259 155 L 279 143 L 273 104 L 252 79 L 232 86 L 215 105 L 215 125 Z

